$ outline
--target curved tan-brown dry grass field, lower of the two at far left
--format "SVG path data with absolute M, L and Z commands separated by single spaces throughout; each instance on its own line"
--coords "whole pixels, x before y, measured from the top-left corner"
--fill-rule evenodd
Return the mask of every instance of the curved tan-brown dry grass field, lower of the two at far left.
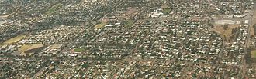
M 34 48 L 40 48 L 43 47 L 43 44 L 28 44 L 28 45 L 23 45 L 21 48 L 18 49 L 18 52 L 20 52 L 19 55 L 24 56 L 26 53 L 24 51 L 28 51 Z

